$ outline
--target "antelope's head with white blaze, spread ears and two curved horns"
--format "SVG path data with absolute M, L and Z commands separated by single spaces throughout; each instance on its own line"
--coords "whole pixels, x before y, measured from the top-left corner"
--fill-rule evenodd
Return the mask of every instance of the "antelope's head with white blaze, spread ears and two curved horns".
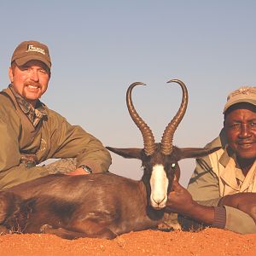
M 131 90 L 137 85 L 145 85 L 142 82 L 136 82 L 129 86 L 126 92 L 126 104 L 131 115 L 131 119 L 137 125 L 143 135 L 144 148 L 111 148 L 108 150 L 119 154 L 125 158 L 142 160 L 144 168 L 143 182 L 146 185 L 151 207 L 162 209 L 166 207 L 167 195 L 172 190 L 172 181 L 180 176 L 180 169 L 177 164 L 179 160 L 185 158 L 197 158 L 211 154 L 218 148 L 177 148 L 172 145 L 172 139 L 177 126 L 183 119 L 188 106 L 188 90 L 182 81 L 172 79 L 167 83 L 175 82 L 183 90 L 181 105 L 166 126 L 160 143 L 154 142 L 153 132 L 148 125 L 138 115 L 131 101 Z

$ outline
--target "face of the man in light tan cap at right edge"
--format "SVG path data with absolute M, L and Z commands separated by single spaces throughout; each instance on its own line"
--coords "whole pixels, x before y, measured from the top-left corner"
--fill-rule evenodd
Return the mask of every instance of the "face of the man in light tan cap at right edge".
M 230 148 L 240 159 L 256 158 L 256 112 L 255 106 L 240 103 L 227 113 L 224 121 Z

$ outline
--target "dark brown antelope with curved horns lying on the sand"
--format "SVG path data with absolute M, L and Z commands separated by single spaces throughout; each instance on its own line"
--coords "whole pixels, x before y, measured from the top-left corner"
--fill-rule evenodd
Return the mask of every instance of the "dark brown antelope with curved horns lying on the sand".
M 2 230 L 48 233 L 62 238 L 114 238 L 123 233 L 153 228 L 166 214 L 172 181 L 179 178 L 178 160 L 201 157 L 218 148 L 177 148 L 172 138 L 188 105 L 188 91 L 180 80 L 183 99 L 177 114 L 166 126 L 160 143 L 137 114 L 131 90 L 126 102 L 131 118 L 142 132 L 144 148 L 110 148 L 125 158 L 142 160 L 140 181 L 113 173 L 85 176 L 50 175 L 22 183 L 0 193 Z M 0 229 L 1 231 L 1 229 Z

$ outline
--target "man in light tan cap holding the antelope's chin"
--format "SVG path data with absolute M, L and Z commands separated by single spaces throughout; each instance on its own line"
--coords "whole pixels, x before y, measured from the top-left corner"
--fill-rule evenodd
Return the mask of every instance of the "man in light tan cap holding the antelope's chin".
M 188 190 L 174 182 L 168 206 L 180 213 L 184 228 L 204 224 L 256 233 L 256 87 L 241 87 L 228 96 L 224 129 L 207 144 L 218 146 L 196 160 Z

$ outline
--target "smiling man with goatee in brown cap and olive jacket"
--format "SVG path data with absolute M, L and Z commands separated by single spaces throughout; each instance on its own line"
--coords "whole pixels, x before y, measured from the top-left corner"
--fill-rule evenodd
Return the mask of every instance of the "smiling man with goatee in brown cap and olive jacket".
M 12 55 L 11 84 L 0 93 L 0 190 L 49 175 L 38 166 L 48 159 L 72 159 L 69 175 L 107 172 L 111 164 L 96 137 L 40 102 L 50 68 L 49 49 L 38 41 L 22 42 Z

